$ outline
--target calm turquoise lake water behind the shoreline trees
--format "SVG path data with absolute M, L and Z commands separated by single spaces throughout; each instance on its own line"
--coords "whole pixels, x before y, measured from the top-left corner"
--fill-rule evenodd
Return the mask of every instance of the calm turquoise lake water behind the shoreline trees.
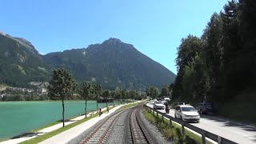
M 105 107 L 106 103 L 98 103 Z M 84 113 L 85 102 L 65 102 L 65 118 Z M 87 112 L 96 102 L 87 102 Z M 0 139 L 24 134 L 62 119 L 62 102 L 0 102 Z

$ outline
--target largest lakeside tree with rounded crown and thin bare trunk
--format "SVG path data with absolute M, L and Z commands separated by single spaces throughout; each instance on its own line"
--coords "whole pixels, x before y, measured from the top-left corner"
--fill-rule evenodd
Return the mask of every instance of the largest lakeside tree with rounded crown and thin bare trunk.
M 54 70 L 52 79 L 49 82 L 48 86 L 48 95 L 52 99 L 61 99 L 62 100 L 62 123 L 63 127 L 65 126 L 64 119 L 64 99 L 68 98 L 73 94 L 76 89 L 77 83 L 72 78 L 72 74 L 69 71 L 64 69 Z

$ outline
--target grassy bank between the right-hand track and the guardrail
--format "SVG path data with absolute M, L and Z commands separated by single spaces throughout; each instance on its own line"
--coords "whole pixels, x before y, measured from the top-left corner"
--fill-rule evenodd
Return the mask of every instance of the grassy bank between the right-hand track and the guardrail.
M 142 113 L 145 115 L 146 119 L 150 121 L 152 124 L 158 127 L 158 130 L 161 131 L 162 134 L 169 138 L 174 143 L 188 143 L 188 144 L 200 144 L 202 143 L 201 137 L 197 134 L 190 132 L 190 130 L 185 129 L 185 134 L 182 134 L 182 127 L 178 124 L 172 122 L 170 124 L 169 120 L 164 118 L 158 118 L 156 114 L 151 114 L 148 110 L 142 109 Z M 206 141 L 206 143 L 211 143 Z

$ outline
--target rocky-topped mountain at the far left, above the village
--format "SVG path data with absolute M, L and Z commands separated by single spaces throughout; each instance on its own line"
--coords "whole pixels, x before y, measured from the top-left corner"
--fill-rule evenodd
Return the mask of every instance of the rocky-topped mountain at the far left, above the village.
M 0 33 L 0 84 L 28 86 L 28 82 L 49 80 L 50 74 L 50 67 L 29 41 Z

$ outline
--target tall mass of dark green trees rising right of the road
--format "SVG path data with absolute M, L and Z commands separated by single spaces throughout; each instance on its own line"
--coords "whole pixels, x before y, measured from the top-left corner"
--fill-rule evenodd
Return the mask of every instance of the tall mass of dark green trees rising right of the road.
M 254 121 L 251 114 L 238 111 L 247 111 L 245 102 L 255 102 L 246 94 L 256 86 L 255 26 L 256 1 L 231 0 L 220 14 L 212 15 L 202 38 L 182 39 L 173 98 L 202 102 L 206 94 L 207 101 L 216 103 L 218 114 Z

